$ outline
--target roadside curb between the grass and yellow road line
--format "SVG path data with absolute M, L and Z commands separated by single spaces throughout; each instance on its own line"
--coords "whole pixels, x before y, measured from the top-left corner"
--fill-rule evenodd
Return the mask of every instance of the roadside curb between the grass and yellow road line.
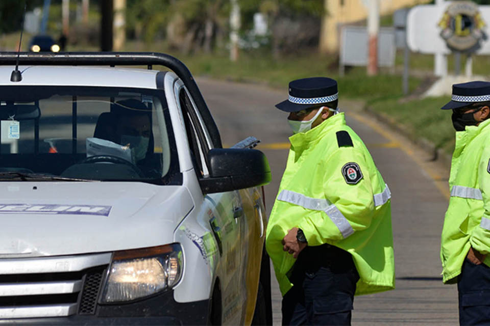
M 381 122 L 382 124 L 388 126 L 392 131 L 401 134 L 404 138 L 408 139 L 412 144 L 420 147 L 423 151 L 427 152 L 432 156 L 431 160 L 440 162 L 440 164 L 444 165 L 448 170 L 451 168 L 451 155 L 444 152 L 444 150 L 437 148 L 432 142 L 425 138 L 415 137 L 410 130 L 404 125 L 399 124 L 392 117 L 373 110 L 369 105 L 364 103 L 363 109 L 364 112 L 368 113 L 376 120 Z

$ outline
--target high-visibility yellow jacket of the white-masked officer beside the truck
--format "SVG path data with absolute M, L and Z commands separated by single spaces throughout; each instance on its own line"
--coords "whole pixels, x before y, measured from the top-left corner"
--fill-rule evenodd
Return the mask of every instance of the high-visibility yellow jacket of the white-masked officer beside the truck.
M 266 250 L 284 295 L 296 259 L 281 243 L 293 227 L 308 246 L 328 243 L 352 254 L 356 295 L 395 287 L 388 186 L 343 113 L 289 138 L 291 149 L 267 225 Z M 323 257 L 318 257 L 322 259 Z

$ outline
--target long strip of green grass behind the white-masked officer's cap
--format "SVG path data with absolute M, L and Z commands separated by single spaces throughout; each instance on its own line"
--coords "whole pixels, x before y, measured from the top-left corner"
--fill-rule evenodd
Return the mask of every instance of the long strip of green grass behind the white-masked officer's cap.
M 217 55 L 181 56 L 180 59 L 197 76 L 258 83 L 281 89 L 286 89 L 293 79 L 328 76 L 338 81 L 340 96 L 373 99 L 399 96 L 402 93 L 400 75 L 382 72 L 369 77 L 366 76 L 365 68 L 353 68 L 340 77 L 335 59 L 316 53 L 280 59 L 242 53 L 236 63 L 231 62 L 228 57 Z M 409 82 L 410 90 L 414 90 L 420 79 L 411 77 Z

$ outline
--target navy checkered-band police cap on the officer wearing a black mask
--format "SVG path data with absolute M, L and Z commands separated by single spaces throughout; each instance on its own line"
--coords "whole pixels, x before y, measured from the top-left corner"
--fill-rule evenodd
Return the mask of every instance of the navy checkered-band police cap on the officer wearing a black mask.
M 490 101 L 490 83 L 469 82 L 453 85 L 451 101 L 442 110 L 460 108 L 475 102 Z

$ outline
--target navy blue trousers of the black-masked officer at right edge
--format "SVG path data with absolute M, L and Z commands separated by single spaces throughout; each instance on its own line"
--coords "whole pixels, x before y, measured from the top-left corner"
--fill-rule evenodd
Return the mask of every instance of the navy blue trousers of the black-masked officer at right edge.
M 459 324 L 490 325 L 490 267 L 464 259 L 458 293 Z

